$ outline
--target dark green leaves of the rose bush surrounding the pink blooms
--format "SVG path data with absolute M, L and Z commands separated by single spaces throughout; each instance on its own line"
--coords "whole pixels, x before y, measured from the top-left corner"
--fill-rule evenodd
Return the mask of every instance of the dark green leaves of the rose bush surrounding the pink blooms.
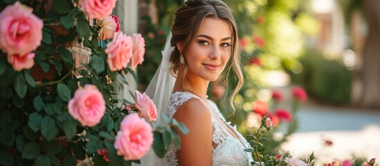
M 1 1 L 1 11 L 14 2 Z M 88 19 L 78 7 L 78 1 L 21 2 L 33 8 L 33 15 L 44 21 L 43 37 L 33 51 L 33 68 L 15 71 L 6 53 L 0 52 L 0 165 L 76 165 L 89 158 L 94 165 L 131 165 L 132 160 L 118 156 L 114 141 L 120 122 L 135 112 L 125 109 L 134 101 L 115 98 L 114 89 L 133 82 L 124 75 L 131 73 L 136 78 L 134 71 L 130 67 L 111 70 L 107 63 L 107 46 L 100 46 L 97 39 L 99 29 L 90 26 L 96 20 Z M 75 53 L 66 46 L 73 42 L 89 49 L 89 62 L 76 64 Z M 109 43 L 108 40 L 103 42 Z M 68 111 L 69 100 L 86 84 L 96 86 L 106 106 L 104 116 L 93 127 L 82 126 Z M 161 157 L 172 141 L 180 145 L 178 133 L 172 126 L 187 132 L 186 127 L 175 120 L 165 122 L 164 126 L 150 123 L 154 135 L 152 146 Z M 97 153 L 99 149 L 107 149 L 105 156 L 109 162 Z M 138 160 L 133 162 L 138 163 Z

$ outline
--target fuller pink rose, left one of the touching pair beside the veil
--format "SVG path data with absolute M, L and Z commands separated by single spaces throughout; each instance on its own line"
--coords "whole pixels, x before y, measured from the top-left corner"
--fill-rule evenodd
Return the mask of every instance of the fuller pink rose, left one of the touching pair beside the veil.
M 109 64 L 109 69 L 111 71 L 118 71 L 126 68 L 129 61 L 132 58 L 133 43 L 131 37 L 124 35 L 121 32 L 115 33 L 112 42 L 107 44 L 108 58 L 107 62 Z

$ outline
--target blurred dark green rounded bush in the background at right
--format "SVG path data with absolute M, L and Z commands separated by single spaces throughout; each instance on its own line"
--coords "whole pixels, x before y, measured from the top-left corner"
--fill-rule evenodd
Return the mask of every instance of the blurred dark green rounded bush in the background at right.
M 303 70 L 290 73 L 298 84 L 317 100 L 330 104 L 347 104 L 351 100 L 352 73 L 339 59 L 325 59 L 315 50 L 302 56 Z

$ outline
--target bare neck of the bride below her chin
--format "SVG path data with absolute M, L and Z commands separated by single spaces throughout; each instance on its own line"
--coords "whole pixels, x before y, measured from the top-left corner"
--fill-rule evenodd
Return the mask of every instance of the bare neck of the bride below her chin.
M 199 98 L 206 100 L 209 83 L 210 81 L 203 80 L 201 77 L 190 72 L 188 72 L 182 79 L 182 73 L 179 72 L 173 91 L 188 91 L 197 95 Z

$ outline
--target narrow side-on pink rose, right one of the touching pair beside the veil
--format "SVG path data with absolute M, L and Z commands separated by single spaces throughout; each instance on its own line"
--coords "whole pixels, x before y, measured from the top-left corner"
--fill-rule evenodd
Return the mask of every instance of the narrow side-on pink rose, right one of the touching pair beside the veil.
M 145 40 L 140 33 L 132 35 L 132 41 L 134 42 L 133 57 L 131 61 L 131 67 L 133 71 L 136 71 L 136 66 L 142 64 L 145 54 Z

